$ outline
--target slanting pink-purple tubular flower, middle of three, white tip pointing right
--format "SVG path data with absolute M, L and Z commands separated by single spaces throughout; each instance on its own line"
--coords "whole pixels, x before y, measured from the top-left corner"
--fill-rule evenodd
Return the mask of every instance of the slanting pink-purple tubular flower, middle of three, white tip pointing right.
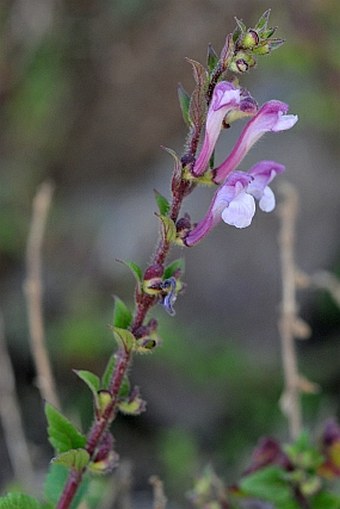
M 297 115 L 287 115 L 288 105 L 281 101 L 268 101 L 248 122 L 227 159 L 214 170 L 214 182 L 222 183 L 240 164 L 250 148 L 264 133 L 285 131 L 297 122 Z

